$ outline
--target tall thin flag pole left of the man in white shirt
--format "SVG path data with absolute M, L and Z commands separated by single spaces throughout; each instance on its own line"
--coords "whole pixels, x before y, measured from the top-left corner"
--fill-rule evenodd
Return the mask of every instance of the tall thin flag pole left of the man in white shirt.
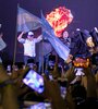
M 17 3 L 17 8 L 20 7 L 20 3 Z M 16 11 L 17 13 L 17 11 Z M 16 14 L 16 26 L 15 26 L 15 40 L 14 40 L 14 53 L 13 53 L 13 65 L 15 64 L 15 58 L 16 58 L 16 45 L 17 45 L 17 14 Z

